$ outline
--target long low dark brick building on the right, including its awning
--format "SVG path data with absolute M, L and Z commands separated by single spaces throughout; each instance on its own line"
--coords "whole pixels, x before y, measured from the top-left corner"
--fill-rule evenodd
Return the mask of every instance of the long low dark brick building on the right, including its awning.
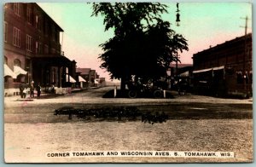
M 193 55 L 194 86 L 208 95 L 253 95 L 252 34 Z

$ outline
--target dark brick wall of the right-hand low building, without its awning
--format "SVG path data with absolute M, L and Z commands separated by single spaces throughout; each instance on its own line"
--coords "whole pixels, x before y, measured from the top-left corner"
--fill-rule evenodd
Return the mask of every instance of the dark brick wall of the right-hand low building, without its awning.
M 252 95 L 252 34 L 206 49 L 193 56 L 194 70 L 224 66 L 223 78 L 226 94 Z M 202 74 L 195 74 L 195 82 Z M 214 72 L 212 73 L 214 76 Z M 242 79 L 242 81 L 241 81 Z

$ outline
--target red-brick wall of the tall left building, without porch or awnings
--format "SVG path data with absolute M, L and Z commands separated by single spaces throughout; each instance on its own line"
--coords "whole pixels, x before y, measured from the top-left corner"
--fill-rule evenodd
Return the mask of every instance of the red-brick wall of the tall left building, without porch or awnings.
M 5 77 L 5 89 L 17 89 L 20 82 L 29 83 L 33 74 L 41 72 L 33 72 L 32 57 L 61 54 L 60 32 L 63 32 L 61 27 L 37 3 L 5 3 L 4 59 L 11 70 L 14 70 L 15 60 L 20 60 L 20 67 L 28 72 L 17 79 Z

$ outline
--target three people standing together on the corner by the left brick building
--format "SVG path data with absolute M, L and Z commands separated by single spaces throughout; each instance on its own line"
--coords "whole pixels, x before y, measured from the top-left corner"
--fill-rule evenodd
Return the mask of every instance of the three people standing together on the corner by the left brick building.
M 27 94 L 27 85 L 22 82 L 20 83 L 20 97 L 21 98 L 26 98 L 26 94 Z M 41 95 L 41 85 L 40 83 L 38 83 L 38 85 L 36 86 L 37 92 L 38 92 L 38 97 L 40 97 Z M 30 97 L 34 97 L 34 90 L 35 90 L 35 86 L 34 86 L 34 82 L 32 81 L 29 84 L 29 90 L 30 90 Z

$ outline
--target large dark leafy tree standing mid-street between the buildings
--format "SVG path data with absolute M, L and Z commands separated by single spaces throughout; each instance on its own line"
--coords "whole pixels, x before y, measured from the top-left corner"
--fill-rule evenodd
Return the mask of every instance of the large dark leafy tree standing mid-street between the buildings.
M 93 3 L 92 15 L 102 14 L 105 31 L 114 30 L 114 37 L 100 45 L 101 67 L 111 78 L 121 78 L 121 89 L 131 75 L 145 81 L 166 76 L 177 51 L 188 50 L 186 39 L 161 19 L 163 13 L 167 6 L 161 3 Z

